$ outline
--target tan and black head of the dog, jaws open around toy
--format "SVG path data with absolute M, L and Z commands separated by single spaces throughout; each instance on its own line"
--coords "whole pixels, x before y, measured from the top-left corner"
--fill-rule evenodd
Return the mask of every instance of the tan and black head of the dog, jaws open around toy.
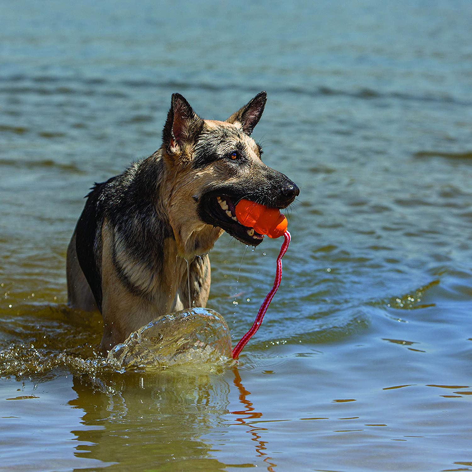
M 237 202 L 282 209 L 299 194 L 287 176 L 262 162 L 261 146 L 251 137 L 266 100 L 261 92 L 226 121 L 213 121 L 198 117 L 182 95 L 172 95 L 163 130 L 165 204 L 181 252 L 208 251 L 222 230 L 257 246 L 262 235 L 237 221 Z

